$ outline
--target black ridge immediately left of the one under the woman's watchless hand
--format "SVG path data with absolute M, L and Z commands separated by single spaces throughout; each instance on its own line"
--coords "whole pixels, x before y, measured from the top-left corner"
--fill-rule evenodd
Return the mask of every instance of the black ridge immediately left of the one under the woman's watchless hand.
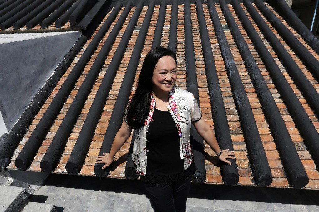
M 136 26 L 138 17 L 142 12 L 143 6 L 143 1 L 141 1 L 135 9 L 130 22 L 122 36 L 122 39 L 114 53 L 110 65 L 108 66 L 108 71 L 106 72 L 100 84 L 99 90 L 95 95 L 92 106 L 89 110 L 89 113 L 87 114 L 82 130 L 78 136 L 78 140 L 75 143 L 70 158 L 65 166 L 66 171 L 69 174 L 78 174 L 83 166 L 83 161 L 85 160 L 86 153 L 90 147 L 94 130 L 100 119 L 100 115 L 103 111 L 108 93 L 114 81 L 115 74 L 121 64 L 122 57 Z

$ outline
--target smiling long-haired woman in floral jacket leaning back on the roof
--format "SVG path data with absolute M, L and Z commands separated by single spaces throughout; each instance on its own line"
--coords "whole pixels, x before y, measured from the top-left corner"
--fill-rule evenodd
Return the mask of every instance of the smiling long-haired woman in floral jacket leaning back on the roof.
M 176 71 L 173 51 L 157 47 L 146 55 L 111 151 L 97 158 L 97 163 L 105 163 L 102 169 L 111 165 L 134 128 L 132 160 L 155 211 L 186 210 L 190 177 L 196 171 L 189 142 L 191 123 L 221 161 L 231 164 L 226 159 L 234 159 L 230 156 L 234 151 L 219 148 L 193 94 L 174 87 Z

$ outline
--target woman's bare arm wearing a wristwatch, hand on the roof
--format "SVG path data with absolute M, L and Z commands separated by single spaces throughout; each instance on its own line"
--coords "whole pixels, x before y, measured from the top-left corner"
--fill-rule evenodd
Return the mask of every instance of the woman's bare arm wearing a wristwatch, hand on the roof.
M 206 121 L 203 119 L 203 117 L 196 121 L 193 122 L 194 127 L 196 128 L 198 134 L 204 138 L 204 140 L 207 142 L 207 144 L 212 148 L 212 150 L 215 151 L 216 154 L 220 153 L 221 149 L 217 143 L 216 137 L 214 132 L 211 130 L 211 127 L 206 123 Z M 235 159 L 234 157 L 230 155 L 235 155 L 234 151 L 229 151 L 229 149 L 223 149 L 223 153 L 218 156 L 219 160 L 224 161 L 231 165 L 229 161 L 226 159 Z

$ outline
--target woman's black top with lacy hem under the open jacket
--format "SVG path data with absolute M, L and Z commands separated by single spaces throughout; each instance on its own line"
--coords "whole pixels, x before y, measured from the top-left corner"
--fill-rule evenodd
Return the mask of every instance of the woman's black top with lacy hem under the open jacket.
M 146 133 L 146 149 L 146 176 L 142 179 L 152 185 L 173 184 L 191 177 L 196 171 L 194 163 L 184 170 L 178 130 L 169 111 L 154 109 Z

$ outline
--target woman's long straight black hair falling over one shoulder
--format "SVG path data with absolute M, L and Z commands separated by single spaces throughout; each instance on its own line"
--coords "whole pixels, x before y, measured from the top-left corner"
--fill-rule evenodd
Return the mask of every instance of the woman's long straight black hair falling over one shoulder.
M 150 113 L 153 71 L 159 59 L 164 56 L 171 56 L 176 62 L 175 53 L 163 47 L 151 49 L 144 59 L 136 91 L 125 114 L 126 122 L 134 129 L 143 127 L 144 121 Z

